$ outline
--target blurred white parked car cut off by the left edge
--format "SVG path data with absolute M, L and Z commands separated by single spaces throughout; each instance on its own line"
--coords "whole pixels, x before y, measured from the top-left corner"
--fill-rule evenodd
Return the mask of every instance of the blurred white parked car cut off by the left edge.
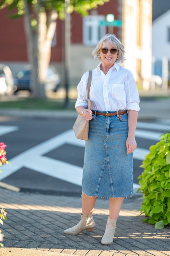
M 10 68 L 0 64 L 0 95 L 11 95 L 14 91 L 14 78 Z

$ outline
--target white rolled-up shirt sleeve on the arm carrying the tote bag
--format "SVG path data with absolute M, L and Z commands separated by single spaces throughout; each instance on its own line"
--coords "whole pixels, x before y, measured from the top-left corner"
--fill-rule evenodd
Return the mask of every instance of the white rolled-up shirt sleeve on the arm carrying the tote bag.
M 77 106 L 84 106 L 84 107 L 88 108 L 87 81 L 88 81 L 88 74 L 86 72 L 82 76 L 80 83 L 77 86 L 78 97 L 76 100 L 75 108 L 77 108 Z

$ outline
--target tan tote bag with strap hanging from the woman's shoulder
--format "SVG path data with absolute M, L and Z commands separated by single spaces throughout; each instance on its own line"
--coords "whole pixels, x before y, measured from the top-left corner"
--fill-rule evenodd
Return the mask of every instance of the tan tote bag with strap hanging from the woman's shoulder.
M 93 106 L 93 102 L 89 100 L 91 77 L 92 77 L 92 70 L 89 71 L 88 88 L 87 88 L 87 98 L 88 98 L 89 109 L 92 109 L 92 106 Z M 74 133 L 77 139 L 84 140 L 84 141 L 88 140 L 89 121 L 85 121 L 80 114 L 77 116 L 76 122 L 72 128 L 74 130 Z

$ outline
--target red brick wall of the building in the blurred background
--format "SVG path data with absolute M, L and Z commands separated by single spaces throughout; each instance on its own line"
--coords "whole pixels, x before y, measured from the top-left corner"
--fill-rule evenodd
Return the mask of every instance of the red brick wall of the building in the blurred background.
M 96 9 L 98 14 L 113 13 L 119 19 L 118 0 L 110 0 Z M 90 10 L 92 14 L 93 10 Z M 11 13 L 11 12 L 10 12 Z M 9 19 L 7 8 L 0 10 L 0 62 L 28 61 L 23 18 Z M 57 45 L 52 47 L 51 61 L 62 61 L 62 21 L 57 20 Z M 118 33 L 119 28 L 114 28 Z M 82 17 L 80 14 L 71 14 L 71 42 L 82 43 Z

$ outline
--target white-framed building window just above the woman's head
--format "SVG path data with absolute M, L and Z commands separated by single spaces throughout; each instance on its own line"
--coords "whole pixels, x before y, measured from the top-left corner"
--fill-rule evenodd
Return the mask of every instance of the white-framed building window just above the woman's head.
M 83 18 L 83 43 L 85 45 L 96 45 L 100 38 L 105 35 L 106 27 L 100 27 L 99 20 L 105 20 L 105 16 L 89 15 Z

